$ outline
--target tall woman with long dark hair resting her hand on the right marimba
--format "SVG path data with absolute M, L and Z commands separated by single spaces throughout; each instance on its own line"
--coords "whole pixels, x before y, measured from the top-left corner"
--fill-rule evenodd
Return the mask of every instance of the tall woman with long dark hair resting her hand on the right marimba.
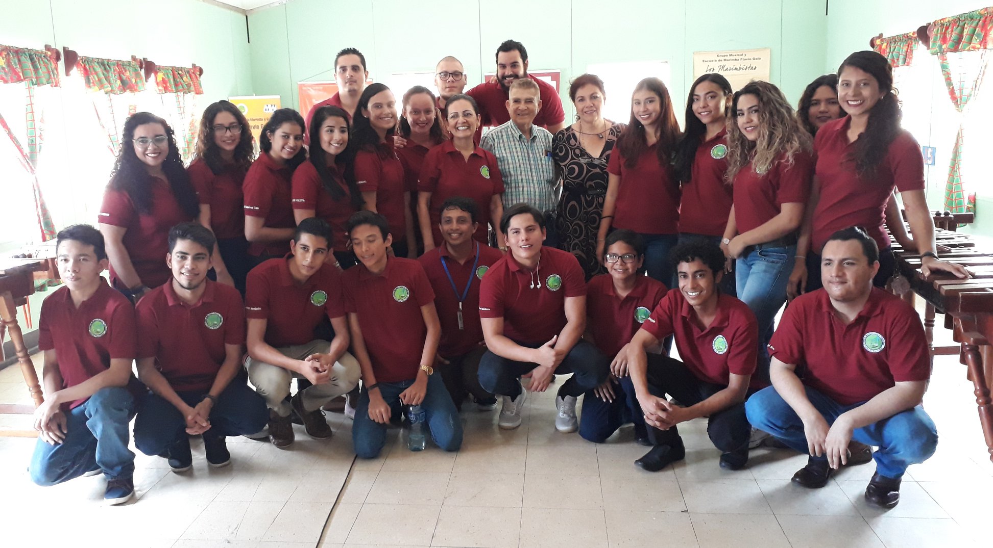
M 865 228 L 879 246 L 880 268 L 873 283 L 886 285 L 896 269 L 883 227 L 894 188 L 904 201 L 922 272 L 967 277 L 964 268 L 939 261 L 935 253 L 921 147 L 900 126 L 903 113 L 893 87 L 893 67 L 886 57 L 868 51 L 848 55 L 838 67 L 838 99 L 848 116 L 822 126 L 814 141 L 817 177 L 807 203 L 810 213 L 796 246 L 789 295 L 821 286 L 820 250 L 832 233 L 851 226 Z M 903 226 L 902 219 L 890 226 L 898 223 Z

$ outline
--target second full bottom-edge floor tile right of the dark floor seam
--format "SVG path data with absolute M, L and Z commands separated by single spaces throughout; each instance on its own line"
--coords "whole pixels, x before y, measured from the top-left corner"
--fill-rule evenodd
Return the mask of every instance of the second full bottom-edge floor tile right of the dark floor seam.
M 516 548 L 520 514 L 519 507 L 442 506 L 431 545 Z

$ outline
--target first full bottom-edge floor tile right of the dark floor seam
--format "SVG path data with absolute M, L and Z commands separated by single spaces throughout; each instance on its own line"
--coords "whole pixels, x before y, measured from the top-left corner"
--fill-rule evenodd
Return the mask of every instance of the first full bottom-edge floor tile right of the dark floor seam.
M 429 546 L 440 504 L 363 504 L 346 544 Z

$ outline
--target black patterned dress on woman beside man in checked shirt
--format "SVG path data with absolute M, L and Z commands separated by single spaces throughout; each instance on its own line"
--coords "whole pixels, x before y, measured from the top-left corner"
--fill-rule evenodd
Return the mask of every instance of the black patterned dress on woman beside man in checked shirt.
M 571 126 L 552 138 L 552 158 L 562 173 L 562 196 L 555 218 L 559 249 L 576 256 L 587 280 L 606 272 L 597 258 L 597 231 L 607 195 L 607 162 L 625 127 L 613 124 L 607 130 L 604 150 L 597 158 L 579 144 L 580 134 Z

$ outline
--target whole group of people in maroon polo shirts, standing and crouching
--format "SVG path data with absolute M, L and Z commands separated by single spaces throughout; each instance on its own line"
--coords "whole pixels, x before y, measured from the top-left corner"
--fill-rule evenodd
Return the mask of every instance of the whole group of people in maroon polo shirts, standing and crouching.
M 821 487 L 875 459 L 867 499 L 899 501 L 936 431 L 921 407 L 920 319 L 878 288 L 894 270 L 885 222 L 925 274 L 969 273 L 935 254 L 921 151 L 900 128 L 885 57 L 849 55 L 836 87 L 805 93 L 796 113 L 769 82 L 732 92 L 702 76 L 685 133 L 665 84 L 645 78 L 629 125 L 606 124 L 616 148 L 591 145 L 604 133 L 582 126 L 606 123 L 599 78 L 570 94 L 585 116 L 570 128 L 554 89 L 519 82 L 537 86 L 533 124 L 574 132 L 570 154 L 609 173 L 591 232 L 607 274 L 590 279 L 572 253 L 543 245 L 546 211 L 503 203 L 502 161 L 478 146 L 480 128 L 510 123 L 511 84 L 534 79 L 523 47 L 500 45 L 497 76 L 466 94 L 458 59 L 437 70 L 439 96 L 413 88 L 398 113 L 388 87 L 365 85 L 364 56 L 343 50 L 339 93 L 306 120 L 274 112 L 254 161 L 247 121 L 226 101 L 205 111 L 189 168 L 164 120 L 128 119 L 100 232 L 59 235 L 67 286 L 40 322 L 37 483 L 102 472 L 120 503 L 133 493 L 135 413 L 136 447 L 183 472 L 193 434 L 211 466 L 230 461 L 226 436 L 287 448 L 299 422 L 329 438 L 322 409 L 344 394 L 359 457 L 379 455 L 404 418 L 412 449 L 429 433 L 456 451 L 470 397 L 480 410 L 501 398 L 497 425 L 512 429 L 529 392 L 571 375 L 556 390 L 556 429 L 600 443 L 634 423 L 650 446 L 643 470 L 683 459 L 677 425 L 705 416 L 722 468 L 747 465 L 758 428 L 810 455 L 795 483 Z M 846 113 L 833 121 L 811 98 L 831 91 Z

